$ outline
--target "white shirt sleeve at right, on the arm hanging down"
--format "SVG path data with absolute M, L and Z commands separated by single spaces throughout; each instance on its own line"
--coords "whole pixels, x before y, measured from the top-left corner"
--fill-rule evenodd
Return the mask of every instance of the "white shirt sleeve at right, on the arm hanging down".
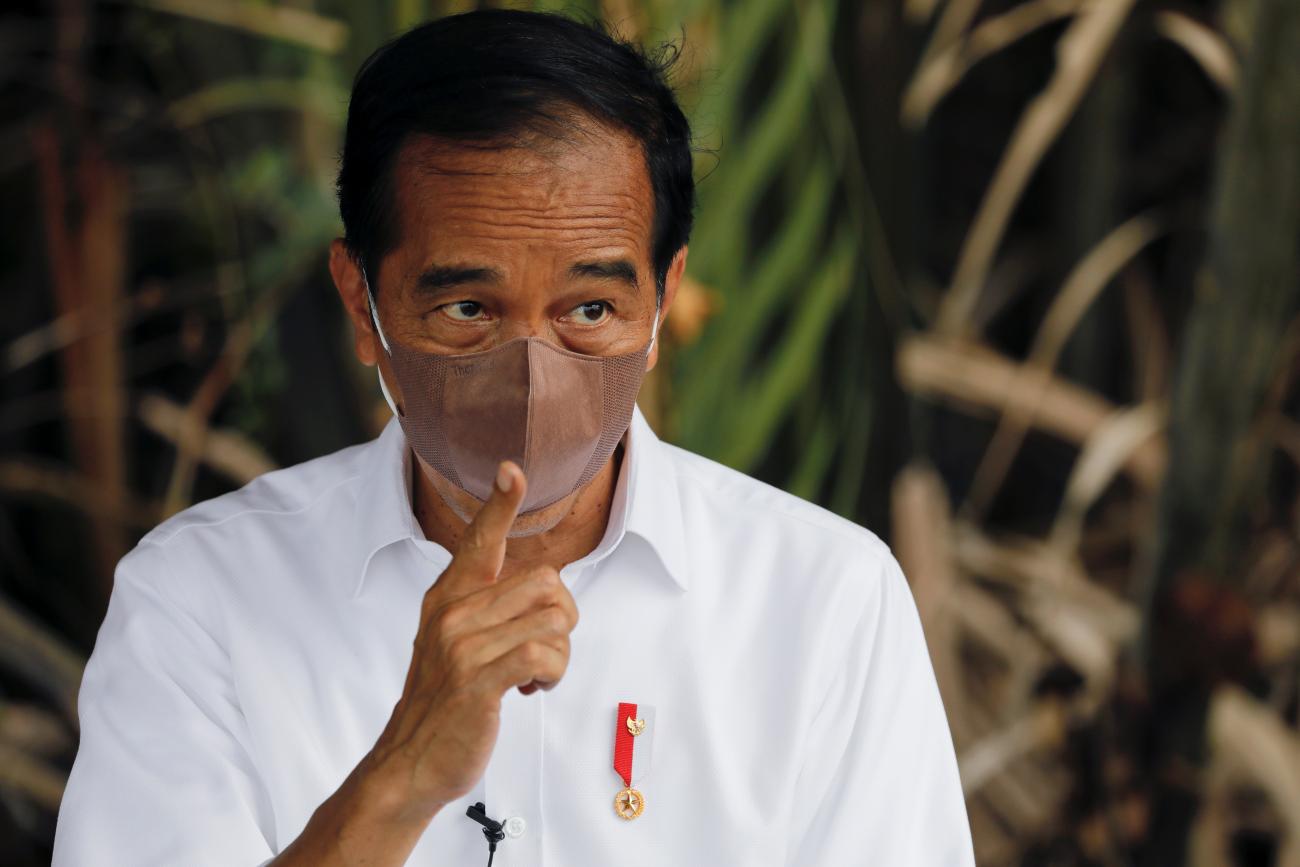
M 806 742 L 786 863 L 974 867 L 948 719 L 892 554 L 868 597 Z

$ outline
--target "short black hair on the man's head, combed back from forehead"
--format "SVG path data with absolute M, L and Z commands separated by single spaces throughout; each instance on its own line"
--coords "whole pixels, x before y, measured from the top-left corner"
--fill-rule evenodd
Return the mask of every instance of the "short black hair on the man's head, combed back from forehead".
M 338 173 L 344 240 L 370 277 L 398 243 L 395 159 L 417 134 L 504 147 L 563 135 L 575 112 L 633 135 L 654 191 L 651 256 L 662 299 L 696 201 L 690 127 L 668 84 L 677 51 L 651 55 L 597 22 L 480 9 L 419 25 L 356 73 Z

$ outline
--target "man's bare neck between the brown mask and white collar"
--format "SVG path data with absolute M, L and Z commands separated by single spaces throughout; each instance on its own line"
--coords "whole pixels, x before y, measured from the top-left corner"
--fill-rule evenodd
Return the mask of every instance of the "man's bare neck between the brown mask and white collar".
M 562 569 L 595 550 L 610 523 L 614 489 L 618 485 L 621 464 L 623 443 L 620 442 L 601 472 L 584 485 L 576 497 L 546 507 L 547 510 L 563 511 L 563 517 L 554 526 L 530 536 L 508 537 L 506 539 L 506 563 L 502 567 L 500 577 L 540 565 Z M 425 473 L 420 472 L 420 461 L 413 456 L 411 467 L 413 477 L 411 499 L 415 517 L 420 523 L 425 538 L 437 542 L 448 551 L 455 551 L 468 524 L 447 506 Z M 538 520 L 547 517 L 554 520 L 552 516 L 538 515 Z

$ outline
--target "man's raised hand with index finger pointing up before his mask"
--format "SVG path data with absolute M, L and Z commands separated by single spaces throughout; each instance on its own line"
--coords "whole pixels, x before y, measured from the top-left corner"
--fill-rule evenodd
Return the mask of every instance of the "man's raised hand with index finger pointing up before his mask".
M 402 698 L 368 757 L 395 818 L 432 816 L 468 794 L 497 744 L 504 692 L 550 689 L 568 667 L 577 606 L 559 572 L 536 567 L 499 580 L 525 489 L 523 471 L 502 463 L 424 594 Z

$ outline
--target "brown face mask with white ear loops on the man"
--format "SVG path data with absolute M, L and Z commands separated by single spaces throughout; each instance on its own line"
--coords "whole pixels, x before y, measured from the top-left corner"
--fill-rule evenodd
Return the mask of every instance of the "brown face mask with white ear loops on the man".
M 540 337 L 519 337 L 482 352 L 436 355 L 390 342 L 369 281 L 365 291 L 374 330 L 402 386 L 403 411 L 382 374 L 380 387 L 407 442 L 480 500 L 488 499 L 506 459 L 528 478 L 520 515 L 568 497 L 601 471 L 632 422 L 659 331 L 658 304 L 650 342 L 627 355 L 582 355 Z

